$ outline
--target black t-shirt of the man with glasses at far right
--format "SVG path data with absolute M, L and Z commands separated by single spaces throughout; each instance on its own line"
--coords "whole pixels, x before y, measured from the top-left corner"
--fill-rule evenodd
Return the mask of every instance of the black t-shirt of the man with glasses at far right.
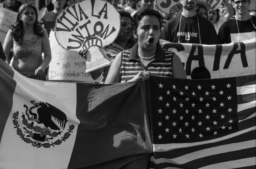
M 237 29 L 237 26 L 239 28 L 239 31 Z M 244 32 L 256 32 L 256 17 L 252 16 L 251 19 L 240 21 L 237 20 L 236 24 L 236 18 L 232 17 L 226 22 L 224 22 L 218 32 L 218 37 L 221 41 L 221 43 L 231 43 L 231 37 L 230 34 L 234 33 L 244 33 Z

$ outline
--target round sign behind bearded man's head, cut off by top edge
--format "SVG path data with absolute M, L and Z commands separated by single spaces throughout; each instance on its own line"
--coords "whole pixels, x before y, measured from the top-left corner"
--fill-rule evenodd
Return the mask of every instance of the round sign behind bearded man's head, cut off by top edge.
M 197 3 L 203 4 L 207 10 L 215 10 L 221 5 L 223 0 L 197 0 Z M 166 14 L 176 13 L 181 6 L 180 0 L 156 0 L 157 8 Z M 181 9 L 182 10 L 182 9 Z

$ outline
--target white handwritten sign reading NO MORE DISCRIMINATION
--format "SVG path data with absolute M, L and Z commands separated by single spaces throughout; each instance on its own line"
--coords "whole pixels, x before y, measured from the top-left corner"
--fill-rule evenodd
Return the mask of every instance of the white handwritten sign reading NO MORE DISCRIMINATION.
M 57 42 L 54 32 L 49 35 L 52 60 L 49 64 L 48 78 L 57 81 L 99 82 L 89 73 L 84 73 L 86 60 L 77 52 L 63 49 Z

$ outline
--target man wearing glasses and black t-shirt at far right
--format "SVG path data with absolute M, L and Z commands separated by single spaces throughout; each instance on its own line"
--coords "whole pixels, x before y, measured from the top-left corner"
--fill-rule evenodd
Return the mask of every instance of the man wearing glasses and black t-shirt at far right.
M 249 14 L 250 0 L 232 0 L 236 15 L 220 27 L 221 43 L 240 42 L 256 37 L 256 17 Z

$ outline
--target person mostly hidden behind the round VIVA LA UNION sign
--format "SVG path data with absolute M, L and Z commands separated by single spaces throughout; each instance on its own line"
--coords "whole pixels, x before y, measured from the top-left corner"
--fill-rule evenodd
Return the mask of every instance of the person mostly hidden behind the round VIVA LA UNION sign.
M 119 14 L 121 16 L 120 20 L 120 31 L 116 38 L 116 40 L 109 46 L 105 48 L 105 51 L 107 52 L 108 57 L 113 60 L 116 57 L 116 54 L 119 52 L 122 52 L 125 49 L 130 49 L 132 46 L 134 46 L 134 39 L 132 37 L 131 32 L 131 14 L 126 11 L 119 11 Z M 87 49 L 81 50 L 78 52 L 82 57 L 86 58 Z M 101 80 L 99 83 L 104 83 L 108 74 L 108 70 L 110 68 L 109 66 L 105 66 L 103 68 L 94 70 L 92 72 L 89 72 L 93 80 L 96 80 L 101 76 Z

